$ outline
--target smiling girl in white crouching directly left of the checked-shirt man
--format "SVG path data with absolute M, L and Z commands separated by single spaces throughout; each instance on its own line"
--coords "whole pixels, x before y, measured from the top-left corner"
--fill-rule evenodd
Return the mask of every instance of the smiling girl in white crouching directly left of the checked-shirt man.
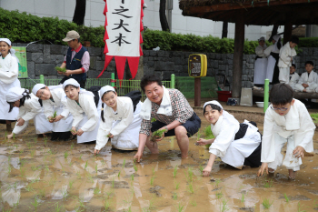
M 118 97 L 113 86 L 101 88 L 102 108 L 104 108 L 101 112 L 103 122 L 98 129 L 94 154 L 99 153 L 109 138 L 117 149 L 134 150 L 138 148 L 139 130 L 142 122 L 139 113 L 143 103 L 140 102 L 141 93 L 139 91 L 129 94 L 132 96 Z

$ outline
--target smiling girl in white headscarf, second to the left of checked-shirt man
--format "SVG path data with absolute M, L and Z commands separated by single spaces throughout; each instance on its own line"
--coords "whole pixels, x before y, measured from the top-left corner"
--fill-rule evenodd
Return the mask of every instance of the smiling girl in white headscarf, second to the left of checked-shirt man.
M 80 88 L 75 79 L 68 79 L 63 84 L 67 96 L 66 104 L 73 115 L 72 131 L 77 136 L 77 143 L 96 140 L 99 115 L 94 103 L 94 94 Z

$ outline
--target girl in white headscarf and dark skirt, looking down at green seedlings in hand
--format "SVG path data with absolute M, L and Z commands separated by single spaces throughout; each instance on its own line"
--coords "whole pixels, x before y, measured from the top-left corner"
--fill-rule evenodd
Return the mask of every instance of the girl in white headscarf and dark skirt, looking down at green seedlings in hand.
M 67 99 L 62 85 L 36 84 L 32 93 L 42 100 L 45 116 L 50 123 L 53 123 L 51 140 L 68 140 L 71 136 L 69 129 L 72 128 L 73 116 L 69 116 L 69 110 L 66 106 Z

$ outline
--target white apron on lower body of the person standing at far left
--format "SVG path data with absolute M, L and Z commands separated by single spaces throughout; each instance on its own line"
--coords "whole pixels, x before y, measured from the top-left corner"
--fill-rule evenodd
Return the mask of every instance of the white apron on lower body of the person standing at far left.
M 21 87 L 20 81 L 15 79 L 13 83 L 5 84 L 0 80 L 0 119 L 1 120 L 16 120 L 19 114 L 19 108 L 14 107 L 9 113 L 10 105 L 5 100 L 5 94 L 11 87 Z

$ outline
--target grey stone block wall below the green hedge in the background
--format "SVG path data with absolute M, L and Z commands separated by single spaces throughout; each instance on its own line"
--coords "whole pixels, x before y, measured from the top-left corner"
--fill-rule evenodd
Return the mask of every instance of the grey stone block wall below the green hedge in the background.
M 26 44 L 14 43 L 13 45 L 25 46 Z M 66 45 L 28 45 L 26 51 L 29 77 L 39 78 L 40 75 L 44 75 L 46 78 L 62 78 L 63 76 L 57 75 L 55 66 L 61 66 L 63 63 L 66 49 Z M 87 50 L 91 56 L 88 77 L 95 78 L 104 68 L 104 48 L 87 47 Z M 164 80 L 170 80 L 171 74 L 175 76 L 188 76 L 187 65 L 189 55 L 191 54 L 194 54 L 194 52 L 144 50 L 144 75 L 155 74 L 161 76 Z M 228 77 L 230 83 L 232 83 L 234 55 L 217 53 L 205 53 L 205 55 L 208 60 L 207 76 L 224 74 Z M 255 55 L 243 56 L 242 86 L 244 87 L 253 86 L 254 58 Z M 298 73 L 303 73 L 304 63 L 307 60 L 313 60 L 315 69 L 318 69 L 318 48 L 303 48 L 303 52 L 294 58 Z M 126 69 L 128 69 L 127 66 Z M 102 77 L 110 78 L 114 70 L 115 64 L 113 60 Z

